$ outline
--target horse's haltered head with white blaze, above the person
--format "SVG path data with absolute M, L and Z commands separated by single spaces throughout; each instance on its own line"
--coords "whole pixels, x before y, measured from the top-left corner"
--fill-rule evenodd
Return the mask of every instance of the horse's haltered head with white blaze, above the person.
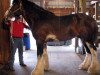
M 13 0 L 12 6 L 6 11 L 5 18 L 8 19 L 14 15 L 21 15 L 23 12 L 23 0 Z

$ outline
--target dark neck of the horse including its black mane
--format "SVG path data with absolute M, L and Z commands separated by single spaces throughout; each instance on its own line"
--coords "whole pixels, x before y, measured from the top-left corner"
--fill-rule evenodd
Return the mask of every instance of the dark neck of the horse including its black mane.
M 29 5 L 28 7 L 31 8 L 29 9 L 27 7 L 27 5 Z M 30 27 L 36 27 L 36 23 L 40 20 L 46 20 L 49 19 L 51 17 L 54 16 L 53 13 L 50 13 L 49 11 L 46 11 L 44 9 L 42 9 L 41 7 L 35 5 L 33 3 L 27 2 L 27 3 L 23 3 L 23 7 L 24 7 L 24 17 L 25 20 L 27 21 L 27 23 L 30 25 Z

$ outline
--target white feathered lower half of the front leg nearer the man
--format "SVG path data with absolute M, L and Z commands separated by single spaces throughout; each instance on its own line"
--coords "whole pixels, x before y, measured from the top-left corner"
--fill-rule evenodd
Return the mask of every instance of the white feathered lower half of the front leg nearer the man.
M 44 62 L 43 56 L 38 57 L 37 65 L 35 70 L 32 71 L 31 75 L 44 75 Z

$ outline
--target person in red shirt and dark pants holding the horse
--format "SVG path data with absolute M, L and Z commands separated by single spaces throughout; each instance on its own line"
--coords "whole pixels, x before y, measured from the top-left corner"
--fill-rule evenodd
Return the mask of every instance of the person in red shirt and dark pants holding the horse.
M 24 28 L 30 29 L 27 25 L 25 25 L 22 21 L 22 17 L 20 15 L 15 15 L 15 21 L 11 21 L 7 25 L 10 26 L 10 34 L 11 34 L 11 51 L 8 65 L 6 66 L 6 70 L 15 71 L 13 68 L 16 49 L 18 48 L 19 53 L 19 64 L 20 66 L 25 67 L 23 61 L 23 30 Z

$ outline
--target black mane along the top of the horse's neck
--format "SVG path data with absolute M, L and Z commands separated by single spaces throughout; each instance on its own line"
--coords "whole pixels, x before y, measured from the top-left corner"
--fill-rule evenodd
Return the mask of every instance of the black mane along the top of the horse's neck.
M 23 5 L 27 11 L 38 14 L 40 19 L 49 18 L 49 17 L 54 16 L 54 13 L 43 9 L 42 7 L 36 5 L 33 2 L 23 1 Z

